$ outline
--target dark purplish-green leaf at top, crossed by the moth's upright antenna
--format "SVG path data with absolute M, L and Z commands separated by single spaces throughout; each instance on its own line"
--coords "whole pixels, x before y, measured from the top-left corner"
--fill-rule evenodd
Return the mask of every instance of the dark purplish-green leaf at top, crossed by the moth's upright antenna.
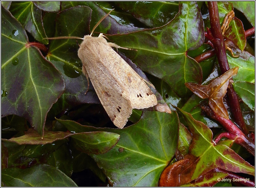
M 60 10 L 65 10 L 67 8 L 74 7 L 77 5 L 88 6 L 92 9 L 92 20 L 90 23 L 91 29 L 96 25 L 96 23 L 104 15 L 106 15 L 106 13 L 110 11 L 110 9 L 107 11 L 104 11 L 93 1 L 62 1 L 60 5 Z M 112 18 L 110 14 L 110 16 L 104 19 L 101 22 L 101 24 L 95 29 L 95 32 L 105 33 L 105 34 L 118 34 L 118 33 L 129 33 L 129 32 L 137 31 L 141 29 L 137 27 L 127 27 L 125 25 L 121 25 L 114 18 L 115 16 L 113 15 L 113 18 Z

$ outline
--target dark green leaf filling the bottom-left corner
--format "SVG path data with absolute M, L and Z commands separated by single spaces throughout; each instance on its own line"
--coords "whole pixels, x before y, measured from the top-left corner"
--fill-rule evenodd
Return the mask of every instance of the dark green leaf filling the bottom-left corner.
M 77 187 L 75 182 L 60 170 L 47 164 L 26 169 L 6 168 L 1 171 L 1 182 L 7 187 Z

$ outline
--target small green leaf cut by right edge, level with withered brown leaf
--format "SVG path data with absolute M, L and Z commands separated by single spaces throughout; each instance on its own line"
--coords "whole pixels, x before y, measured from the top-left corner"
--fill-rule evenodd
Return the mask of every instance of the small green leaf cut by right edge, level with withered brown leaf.
M 255 111 L 255 84 L 250 82 L 232 83 L 237 95 Z

